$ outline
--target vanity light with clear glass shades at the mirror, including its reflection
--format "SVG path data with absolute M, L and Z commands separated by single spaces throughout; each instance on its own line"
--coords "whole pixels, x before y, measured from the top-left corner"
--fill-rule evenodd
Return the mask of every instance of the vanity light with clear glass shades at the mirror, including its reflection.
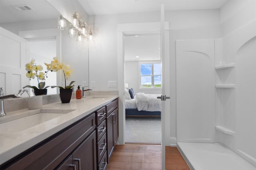
M 61 30 L 64 30 L 66 27 L 66 18 L 63 16 L 59 16 L 59 24 L 58 28 Z M 90 32 L 88 33 L 88 30 L 90 29 Z M 76 32 L 77 31 L 77 32 Z M 91 28 L 87 25 L 87 23 L 82 19 L 82 17 L 75 12 L 74 15 L 72 15 L 72 21 L 70 23 L 70 29 L 68 31 L 68 35 L 70 37 L 75 37 L 77 33 L 77 39 L 76 41 L 83 42 L 83 37 L 86 37 L 87 39 L 92 40 L 92 31 Z

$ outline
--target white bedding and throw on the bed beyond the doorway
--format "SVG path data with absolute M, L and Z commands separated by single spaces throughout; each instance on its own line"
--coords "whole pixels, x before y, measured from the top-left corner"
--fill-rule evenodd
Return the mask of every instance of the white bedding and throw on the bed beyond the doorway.
M 161 100 L 156 98 L 159 94 L 137 93 L 134 99 L 125 100 L 126 109 L 135 109 L 138 111 L 161 111 Z

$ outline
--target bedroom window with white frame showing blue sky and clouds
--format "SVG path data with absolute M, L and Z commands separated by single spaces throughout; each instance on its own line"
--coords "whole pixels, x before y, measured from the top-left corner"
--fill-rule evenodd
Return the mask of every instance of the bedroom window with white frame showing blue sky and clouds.
M 161 88 L 161 63 L 140 63 L 140 88 Z

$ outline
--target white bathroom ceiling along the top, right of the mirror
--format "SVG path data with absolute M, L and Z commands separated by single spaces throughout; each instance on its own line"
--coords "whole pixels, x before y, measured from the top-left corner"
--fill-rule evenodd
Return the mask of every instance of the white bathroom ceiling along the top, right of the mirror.
M 88 15 L 218 9 L 228 0 L 78 0 Z

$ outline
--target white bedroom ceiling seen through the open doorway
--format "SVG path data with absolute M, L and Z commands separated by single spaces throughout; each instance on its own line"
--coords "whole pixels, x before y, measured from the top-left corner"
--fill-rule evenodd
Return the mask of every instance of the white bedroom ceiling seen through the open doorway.
M 160 33 L 124 36 L 124 61 L 151 60 L 161 60 Z

